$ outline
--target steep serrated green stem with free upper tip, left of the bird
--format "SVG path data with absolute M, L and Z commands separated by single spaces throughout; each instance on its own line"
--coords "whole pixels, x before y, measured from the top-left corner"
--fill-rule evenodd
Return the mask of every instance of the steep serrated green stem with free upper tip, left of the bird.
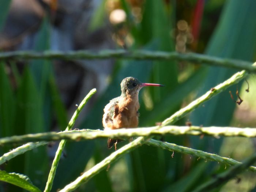
M 70 129 L 72 129 L 72 127 L 75 124 L 76 119 L 78 118 L 79 113 L 81 112 L 81 110 L 83 109 L 84 105 L 87 103 L 87 101 L 93 96 L 93 94 L 96 93 L 96 89 L 92 89 L 87 95 L 86 97 L 83 99 L 83 101 L 80 103 L 80 105 L 78 106 L 78 108 L 76 109 L 75 113 L 73 114 L 71 120 L 68 123 L 68 126 L 66 128 L 66 131 L 69 131 Z M 53 159 L 52 162 L 52 167 L 50 169 L 50 173 L 48 176 L 48 180 L 46 182 L 46 186 L 45 186 L 45 190 L 44 192 L 49 192 L 52 189 L 52 185 L 53 185 L 53 179 L 55 177 L 55 173 L 56 173 L 56 169 L 58 166 L 58 163 L 60 161 L 60 157 L 61 157 L 61 153 L 65 147 L 67 140 L 61 140 L 59 147 L 56 151 L 55 157 Z

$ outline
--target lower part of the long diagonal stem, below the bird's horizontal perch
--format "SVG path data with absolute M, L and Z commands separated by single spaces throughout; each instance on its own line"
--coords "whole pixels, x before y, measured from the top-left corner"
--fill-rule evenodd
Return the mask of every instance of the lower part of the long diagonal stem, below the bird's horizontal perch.
M 74 191 L 78 188 L 81 184 L 87 182 L 91 177 L 98 174 L 101 170 L 105 169 L 110 163 L 116 161 L 118 158 L 122 157 L 123 155 L 129 153 L 130 151 L 134 150 L 136 147 L 142 145 L 146 142 L 146 137 L 139 137 L 135 139 L 133 142 L 121 147 L 117 151 L 110 154 L 108 157 L 103 159 L 101 162 L 93 166 L 87 172 L 84 172 L 80 177 L 76 178 L 75 181 L 71 182 L 70 184 L 66 185 L 63 189 L 59 192 L 69 192 Z

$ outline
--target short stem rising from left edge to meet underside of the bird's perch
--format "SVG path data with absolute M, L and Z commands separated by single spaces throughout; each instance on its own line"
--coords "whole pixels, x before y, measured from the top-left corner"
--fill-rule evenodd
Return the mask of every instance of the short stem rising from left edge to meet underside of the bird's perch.
M 48 142 L 36 142 L 36 143 L 26 143 L 20 147 L 17 147 L 13 150 L 11 150 L 8 153 L 3 154 L 3 156 L 0 157 L 0 165 L 3 163 L 7 163 L 10 159 L 21 155 L 25 153 L 26 151 L 32 150 L 34 148 L 37 148 L 39 146 L 45 145 Z

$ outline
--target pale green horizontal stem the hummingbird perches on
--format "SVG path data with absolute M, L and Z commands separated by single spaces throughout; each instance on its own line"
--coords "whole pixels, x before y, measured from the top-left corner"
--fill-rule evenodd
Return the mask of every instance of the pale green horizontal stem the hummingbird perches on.
M 86 140 L 96 138 L 131 138 L 138 136 L 152 135 L 208 135 L 208 136 L 241 136 L 253 138 L 256 137 L 256 128 L 237 128 L 237 127 L 198 127 L 198 126 L 165 126 L 159 129 L 157 127 L 114 129 L 114 130 L 92 130 L 81 129 L 62 132 L 35 133 L 20 136 L 11 136 L 0 139 L 0 144 L 26 143 L 38 141 L 54 140 Z

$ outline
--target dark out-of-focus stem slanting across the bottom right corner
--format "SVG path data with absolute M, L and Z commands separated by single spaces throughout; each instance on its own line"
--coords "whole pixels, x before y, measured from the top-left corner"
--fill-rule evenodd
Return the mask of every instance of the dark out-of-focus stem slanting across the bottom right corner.
M 217 176 L 214 176 L 210 181 L 206 182 L 203 185 L 200 185 L 193 192 L 211 191 L 212 189 L 215 189 L 215 188 L 225 184 L 231 178 L 236 177 L 237 174 L 243 172 L 250 165 L 255 163 L 255 161 L 256 161 L 256 153 L 254 153 L 251 157 L 246 159 L 246 161 L 244 163 L 241 163 L 235 167 L 231 167 L 226 172 L 218 174 Z

